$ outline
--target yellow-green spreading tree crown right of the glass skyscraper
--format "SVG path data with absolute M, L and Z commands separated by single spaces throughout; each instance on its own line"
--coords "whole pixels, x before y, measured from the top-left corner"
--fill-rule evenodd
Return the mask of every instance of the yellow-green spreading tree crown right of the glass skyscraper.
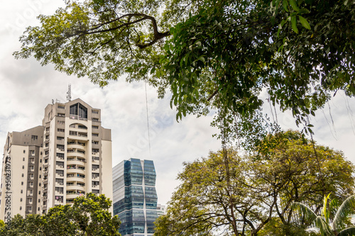
M 343 201 L 354 191 L 354 166 L 342 152 L 294 131 L 269 135 L 243 158 L 226 152 L 185 163 L 155 235 L 268 235 L 275 227 L 306 235 L 307 224 L 291 218 L 294 201 L 320 211 L 324 194 Z

